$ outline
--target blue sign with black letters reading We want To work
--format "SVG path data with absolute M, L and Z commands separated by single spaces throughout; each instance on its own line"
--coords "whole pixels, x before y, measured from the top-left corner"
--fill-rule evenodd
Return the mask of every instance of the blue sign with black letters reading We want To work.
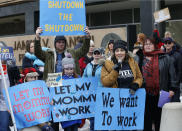
M 129 89 L 99 88 L 95 130 L 143 130 L 145 89 L 130 95 Z

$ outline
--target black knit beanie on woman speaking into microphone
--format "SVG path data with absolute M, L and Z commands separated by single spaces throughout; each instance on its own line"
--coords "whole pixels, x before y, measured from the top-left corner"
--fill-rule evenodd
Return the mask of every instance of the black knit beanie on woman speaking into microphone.
M 123 40 L 118 40 L 118 41 L 114 42 L 113 52 L 115 52 L 115 50 L 117 48 L 122 48 L 126 51 L 126 53 L 128 52 L 127 42 L 125 42 Z

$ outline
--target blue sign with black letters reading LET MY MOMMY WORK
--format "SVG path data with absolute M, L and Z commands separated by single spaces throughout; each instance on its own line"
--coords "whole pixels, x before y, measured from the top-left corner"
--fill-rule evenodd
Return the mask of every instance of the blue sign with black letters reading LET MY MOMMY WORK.
M 62 86 L 50 88 L 54 122 L 93 117 L 97 84 L 96 78 L 77 78 L 63 80 Z

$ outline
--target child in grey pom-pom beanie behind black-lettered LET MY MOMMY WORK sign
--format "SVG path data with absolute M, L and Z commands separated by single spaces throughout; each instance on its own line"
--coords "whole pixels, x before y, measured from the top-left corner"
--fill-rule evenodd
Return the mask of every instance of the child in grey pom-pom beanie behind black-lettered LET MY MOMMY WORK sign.
M 62 60 L 63 67 L 63 79 L 74 79 L 78 78 L 79 75 L 75 73 L 75 62 L 71 54 L 67 53 L 65 58 Z M 81 124 L 81 120 L 73 120 L 61 122 L 64 131 L 78 131 L 78 127 Z

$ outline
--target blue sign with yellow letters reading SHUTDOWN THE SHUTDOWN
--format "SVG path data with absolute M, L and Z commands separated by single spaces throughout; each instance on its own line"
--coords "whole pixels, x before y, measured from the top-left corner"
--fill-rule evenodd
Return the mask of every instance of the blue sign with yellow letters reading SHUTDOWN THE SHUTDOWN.
M 85 0 L 40 0 L 42 35 L 85 35 Z

